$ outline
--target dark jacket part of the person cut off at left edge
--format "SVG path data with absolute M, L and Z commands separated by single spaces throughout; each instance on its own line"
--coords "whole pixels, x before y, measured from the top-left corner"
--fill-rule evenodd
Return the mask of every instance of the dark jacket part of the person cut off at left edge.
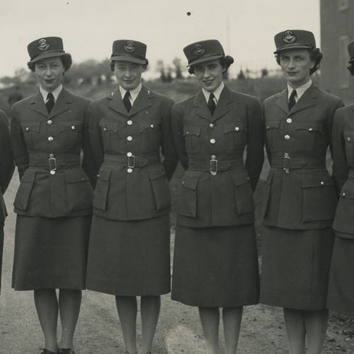
M 11 181 L 14 169 L 8 120 L 5 113 L 0 110 L 0 224 L 7 216 L 3 195 Z

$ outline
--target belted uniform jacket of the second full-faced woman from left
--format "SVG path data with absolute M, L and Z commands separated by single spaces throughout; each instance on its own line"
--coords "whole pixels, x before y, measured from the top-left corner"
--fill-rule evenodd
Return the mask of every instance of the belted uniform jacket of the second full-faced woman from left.
M 89 137 L 99 169 L 94 214 L 134 220 L 169 213 L 169 180 L 178 163 L 171 131 L 172 105 L 170 98 L 145 86 L 130 113 L 119 88 L 90 104 Z

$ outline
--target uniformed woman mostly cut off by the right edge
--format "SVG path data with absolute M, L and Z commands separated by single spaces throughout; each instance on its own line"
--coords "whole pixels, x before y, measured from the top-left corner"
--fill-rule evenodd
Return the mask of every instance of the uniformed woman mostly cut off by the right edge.
M 354 76 L 354 41 L 348 44 L 349 72 Z M 339 202 L 329 278 L 329 309 L 354 315 L 354 105 L 336 111 L 333 122 L 333 178 Z

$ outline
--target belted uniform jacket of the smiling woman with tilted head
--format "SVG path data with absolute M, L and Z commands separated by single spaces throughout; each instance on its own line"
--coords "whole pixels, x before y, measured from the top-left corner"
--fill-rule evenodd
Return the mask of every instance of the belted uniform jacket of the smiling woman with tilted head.
M 186 170 L 178 197 L 178 224 L 222 227 L 253 223 L 252 190 L 264 159 L 258 100 L 225 86 L 211 115 L 200 91 L 174 105 L 172 121 L 178 157 Z

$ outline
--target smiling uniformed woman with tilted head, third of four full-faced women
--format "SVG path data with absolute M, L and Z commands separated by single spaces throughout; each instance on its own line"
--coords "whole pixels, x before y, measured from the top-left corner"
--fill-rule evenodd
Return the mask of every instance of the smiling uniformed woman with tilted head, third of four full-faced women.
M 258 303 L 252 192 L 263 166 L 257 99 L 231 91 L 223 74 L 234 59 L 217 40 L 184 48 L 199 93 L 173 106 L 173 137 L 185 169 L 177 205 L 172 299 L 198 307 L 208 354 L 236 353 L 244 305 Z M 244 151 L 247 146 L 246 163 Z

